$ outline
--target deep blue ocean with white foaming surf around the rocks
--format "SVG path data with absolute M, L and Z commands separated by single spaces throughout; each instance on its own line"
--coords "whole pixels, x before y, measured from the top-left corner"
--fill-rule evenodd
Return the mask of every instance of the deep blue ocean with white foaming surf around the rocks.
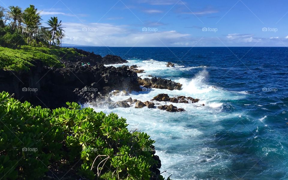
M 146 72 L 138 74 L 142 78 L 152 75 L 183 84 L 181 90 L 153 88 L 113 96 L 113 101 L 132 97 L 144 102 L 161 93 L 200 99 L 196 104 L 168 103 L 186 110 L 175 113 L 94 107 L 117 113 L 127 119 L 129 129 L 151 135 L 165 177 L 288 179 L 288 48 L 78 48 L 119 55 L 129 61 L 125 65 L 141 66 Z M 166 67 L 168 61 L 175 67 Z

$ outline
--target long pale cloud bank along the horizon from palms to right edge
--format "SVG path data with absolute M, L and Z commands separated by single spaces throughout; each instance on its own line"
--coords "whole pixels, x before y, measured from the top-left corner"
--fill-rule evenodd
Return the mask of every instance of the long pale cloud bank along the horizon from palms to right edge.
M 202 46 L 286 46 L 287 37 L 261 38 L 253 34 L 228 34 L 213 38 L 193 37 L 192 34 L 160 31 L 157 28 L 143 27 L 131 29 L 128 25 L 116 26 L 109 23 L 63 23 L 65 44 L 88 46 L 126 47 L 202 47 Z M 202 29 L 199 29 L 202 31 Z

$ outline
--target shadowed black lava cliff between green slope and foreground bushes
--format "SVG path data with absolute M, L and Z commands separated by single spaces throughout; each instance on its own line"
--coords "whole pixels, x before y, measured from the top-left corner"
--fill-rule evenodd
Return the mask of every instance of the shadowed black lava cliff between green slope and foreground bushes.
M 22 102 L 57 108 L 66 106 L 67 101 L 94 101 L 114 89 L 139 90 L 137 74 L 127 67 L 105 67 L 98 63 L 82 67 L 80 62 L 66 62 L 65 68 L 54 69 L 37 61 L 28 72 L 0 70 L 0 91 L 14 93 L 14 98 Z

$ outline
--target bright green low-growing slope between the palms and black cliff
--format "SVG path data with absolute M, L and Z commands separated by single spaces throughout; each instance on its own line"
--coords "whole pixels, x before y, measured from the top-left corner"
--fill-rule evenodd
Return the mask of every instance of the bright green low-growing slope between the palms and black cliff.
M 45 47 L 21 46 L 10 49 L 0 46 L 0 68 L 4 70 L 29 70 L 33 61 L 41 60 L 46 66 L 63 67 L 61 58 L 70 59 L 80 55 L 73 48 L 49 49 Z

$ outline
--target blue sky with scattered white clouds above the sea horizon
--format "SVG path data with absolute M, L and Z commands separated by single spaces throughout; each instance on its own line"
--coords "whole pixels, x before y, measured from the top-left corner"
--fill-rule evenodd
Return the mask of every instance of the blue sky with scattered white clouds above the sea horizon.
M 0 0 L 58 16 L 63 43 L 91 46 L 286 46 L 286 0 Z M 45 23 L 44 23 L 45 25 Z

